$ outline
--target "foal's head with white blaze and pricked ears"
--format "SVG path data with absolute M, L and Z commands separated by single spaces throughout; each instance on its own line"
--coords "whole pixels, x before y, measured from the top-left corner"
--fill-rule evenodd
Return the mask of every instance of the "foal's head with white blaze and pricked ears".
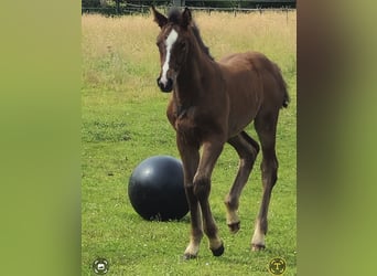
M 168 18 L 158 12 L 154 7 L 152 7 L 152 12 L 154 21 L 161 28 L 157 39 L 161 72 L 157 81 L 162 92 L 171 92 L 180 70 L 187 60 L 190 47 L 195 43 L 194 41 L 209 57 L 211 55 L 200 36 L 197 26 L 192 21 L 187 8 L 182 13 L 177 9 L 171 10 Z

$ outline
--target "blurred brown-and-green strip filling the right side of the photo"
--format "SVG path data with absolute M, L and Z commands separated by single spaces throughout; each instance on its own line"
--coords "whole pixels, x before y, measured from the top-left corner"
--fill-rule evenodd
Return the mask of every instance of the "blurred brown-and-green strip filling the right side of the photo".
M 371 275 L 376 4 L 298 1 L 298 274 Z

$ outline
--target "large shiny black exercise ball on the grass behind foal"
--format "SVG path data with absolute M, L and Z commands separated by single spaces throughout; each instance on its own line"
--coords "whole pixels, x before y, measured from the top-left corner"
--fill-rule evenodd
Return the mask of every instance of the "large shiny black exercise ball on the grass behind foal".
M 170 156 L 154 156 L 133 170 L 128 197 L 146 220 L 180 220 L 188 212 L 183 187 L 182 162 Z

